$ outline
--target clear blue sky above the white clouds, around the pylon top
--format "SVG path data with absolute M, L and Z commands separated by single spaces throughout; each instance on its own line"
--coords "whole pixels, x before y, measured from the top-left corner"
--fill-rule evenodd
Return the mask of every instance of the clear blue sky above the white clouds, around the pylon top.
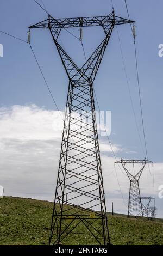
M 99 16 L 107 15 L 112 10 L 111 1 L 108 0 L 61 0 L 59 2 L 44 0 L 43 3 L 54 17 Z M 115 14 L 127 18 L 124 1 L 114 0 L 113 3 Z M 137 58 L 148 158 L 156 163 L 162 163 L 163 58 L 158 56 L 158 46 L 163 43 L 161 28 L 163 2 L 161 0 L 137 0 L 127 1 L 127 3 L 130 19 L 135 20 L 137 26 Z M 27 39 L 28 26 L 47 18 L 47 14 L 33 0 L 1 0 L 0 14 L 0 29 L 24 40 Z M 143 141 L 133 36 L 129 25 L 118 26 L 118 32 Z M 78 29 L 73 33 L 79 36 Z M 95 29 L 83 31 L 83 44 L 87 56 L 95 49 L 103 36 L 102 31 L 98 29 L 97 31 Z M 72 38 L 66 32 L 62 33 L 61 39 L 67 52 L 76 59 L 77 63 L 82 63 L 84 56 L 77 39 Z M 55 110 L 29 45 L 2 33 L 0 33 L 0 43 L 4 47 L 4 57 L 0 58 L 0 106 L 35 104 L 40 108 L 44 106 L 49 111 Z M 77 47 L 72 47 L 73 43 L 77 44 L 79 50 Z M 68 80 L 51 35 L 48 31 L 33 29 L 31 44 L 57 105 L 62 111 L 66 102 Z M 116 29 L 106 48 L 94 86 L 101 110 L 111 111 L 110 140 L 112 144 L 120 145 L 125 149 L 118 154 L 128 159 L 142 159 L 144 154 L 131 109 Z M 163 180 L 161 182 L 163 184 Z M 158 190 L 157 184 L 156 190 Z M 161 204 L 160 201 L 158 202 Z

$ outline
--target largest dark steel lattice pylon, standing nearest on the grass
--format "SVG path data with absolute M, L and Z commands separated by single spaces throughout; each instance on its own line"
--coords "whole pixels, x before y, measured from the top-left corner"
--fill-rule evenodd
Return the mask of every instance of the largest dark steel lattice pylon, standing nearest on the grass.
M 94 243 L 110 243 L 93 81 L 112 29 L 114 26 L 131 22 L 134 21 L 115 16 L 112 11 L 109 15 L 98 17 L 54 19 L 49 15 L 47 20 L 29 27 L 49 29 L 69 79 L 49 244 L 66 241 L 67 235 L 73 235 L 73 230 L 78 225 L 82 225 L 85 235 L 89 231 Z M 58 38 L 62 29 L 81 30 L 83 27 L 91 26 L 101 26 L 105 37 L 82 68 L 78 68 L 61 47 Z M 89 242 L 87 238 L 85 243 L 89 244 L 92 241 Z M 70 242 L 69 240 L 68 243 Z

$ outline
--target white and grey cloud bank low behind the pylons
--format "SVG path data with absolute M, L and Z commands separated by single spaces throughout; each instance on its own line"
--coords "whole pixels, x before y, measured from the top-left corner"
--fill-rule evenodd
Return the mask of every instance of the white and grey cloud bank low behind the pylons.
M 57 111 L 35 105 L 0 108 L 0 185 L 4 187 L 5 195 L 53 201 L 62 129 L 63 122 Z M 112 148 L 115 153 L 126 151 L 120 145 L 112 145 Z M 111 156 L 110 146 L 104 142 L 104 138 L 100 141 L 100 149 L 106 204 L 110 208 L 113 200 L 115 211 L 126 213 L 117 176 L 126 204 L 128 177 L 122 167 L 122 171 L 118 166 L 114 169 L 115 159 Z M 154 164 L 156 196 L 159 185 L 163 184 L 162 169 L 163 163 Z M 140 180 L 143 194 L 152 195 L 152 182 L 152 176 L 146 167 Z M 158 200 L 160 212 L 162 202 L 161 199 Z

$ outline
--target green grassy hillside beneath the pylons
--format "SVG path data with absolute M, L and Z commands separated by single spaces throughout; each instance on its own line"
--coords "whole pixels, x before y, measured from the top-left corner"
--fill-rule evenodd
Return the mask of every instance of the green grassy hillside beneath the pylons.
M 0 199 L 0 245 L 47 245 L 53 203 L 34 199 Z M 127 219 L 110 215 L 109 230 L 114 245 L 163 245 L 163 222 Z M 67 237 L 65 244 L 86 244 L 91 237 L 80 230 Z M 92 243 L 93 244 L 93 243 Z

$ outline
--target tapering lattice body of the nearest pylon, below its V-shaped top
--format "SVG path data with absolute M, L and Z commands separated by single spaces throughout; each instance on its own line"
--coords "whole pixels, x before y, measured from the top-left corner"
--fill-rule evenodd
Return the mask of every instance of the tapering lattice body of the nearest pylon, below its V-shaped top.
M 70 82 L 49 244 L 78 226 L 91 243 L 110 243 L 93 88 Z

